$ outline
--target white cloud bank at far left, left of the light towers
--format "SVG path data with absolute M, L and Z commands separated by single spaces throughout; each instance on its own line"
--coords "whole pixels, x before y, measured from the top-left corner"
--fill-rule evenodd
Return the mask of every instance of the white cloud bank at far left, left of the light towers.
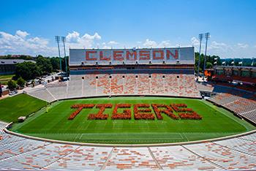
M 0 31 L 0 53 L 6 54 L 27 54 L 36 56 L 53 55 L 56 50 L 55 47 L 48 46 L 48 39 L 31 37 L 27 38 L 29 33 L 26 31 L 16 31 L 15 34 L 9 34 L 4 31 Z

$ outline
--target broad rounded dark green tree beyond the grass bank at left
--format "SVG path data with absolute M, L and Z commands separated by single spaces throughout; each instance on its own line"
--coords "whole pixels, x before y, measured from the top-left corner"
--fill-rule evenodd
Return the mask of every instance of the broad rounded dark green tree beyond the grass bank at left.
M 33 62 L 23 62 L 16 65 L 15 77 L 23 77 L 24 80 L 31 80 L 41 75 L 41 70 Z

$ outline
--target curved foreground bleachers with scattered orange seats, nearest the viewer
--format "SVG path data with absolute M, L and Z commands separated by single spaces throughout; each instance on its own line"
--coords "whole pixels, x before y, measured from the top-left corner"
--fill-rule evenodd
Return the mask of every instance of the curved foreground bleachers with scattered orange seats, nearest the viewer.
M 256 133 L 165 147 L 65 145 L 2 131 L 0 170 L 255 170 Z

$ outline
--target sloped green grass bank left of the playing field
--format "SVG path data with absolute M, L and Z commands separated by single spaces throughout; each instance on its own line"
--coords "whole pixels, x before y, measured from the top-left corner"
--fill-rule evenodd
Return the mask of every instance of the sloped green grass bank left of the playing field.
M 18 121 L 18 117 L 37 112 L 47 102 L 26 94 L 7 97 L 0 100 L 0 121 Z

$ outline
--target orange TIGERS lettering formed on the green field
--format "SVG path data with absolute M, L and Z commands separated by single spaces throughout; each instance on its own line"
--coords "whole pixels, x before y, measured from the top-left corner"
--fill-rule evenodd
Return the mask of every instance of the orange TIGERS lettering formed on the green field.
M 68 120 L 72 120 L 85 108 L 93 108 L 95 104 L 74 104 L 71 106 L 72 109 L 77 109 L 73 112 Z M 109 114 L 104 114 L 105 109 L 112 108 L 113 104 L 97 104 L 96 108 L 99 109 L 96 114 L 89 114 L 89 120 L 106 120 L 108 119 Z M 132 110 L 130 108 L 132 104 L 116 104 L 111 115 L 111 119 L 131 119 Z M 187 104 L 151 104 L 151 107 L 154 110 L 154 114 L 157 116 L 157 120 L 162 120 L 162 113 L 167 115 L 172 119 L 192 119 L 192 120 L 201 120 L 202 116 L 197 114 L 191 108 L 187 108 Z M 122 113 L 118 113 L 118 108 L 127 108 L 124 109 Z M 154 114 L 151 113 L 150 104 L 134 104 L 134 118 L 135 120 L 154 120 Z M 173 110 L 178 114 L 173 114 Z

